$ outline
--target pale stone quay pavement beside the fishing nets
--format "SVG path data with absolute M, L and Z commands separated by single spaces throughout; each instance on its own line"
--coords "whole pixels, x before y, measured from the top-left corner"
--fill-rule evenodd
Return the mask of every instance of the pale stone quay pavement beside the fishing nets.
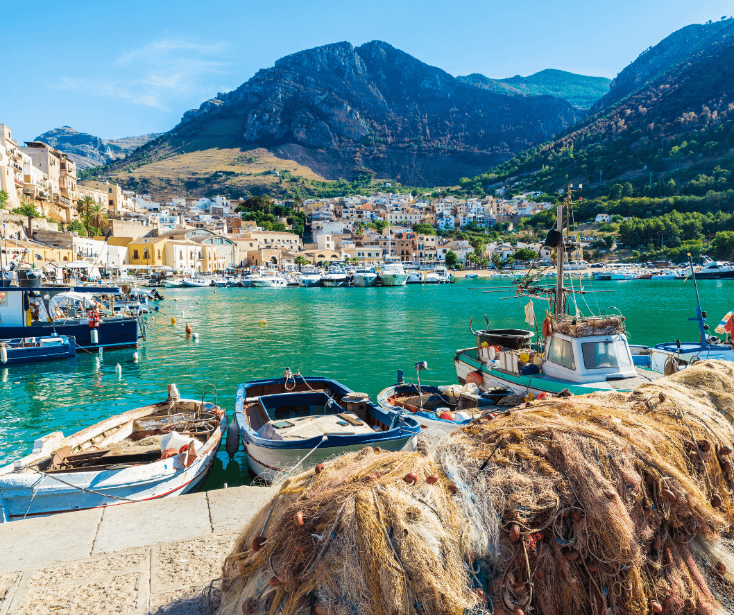
M 206 615 L 225 556 L 275 492 L 231 487 L 2 523 L 0 615 Z

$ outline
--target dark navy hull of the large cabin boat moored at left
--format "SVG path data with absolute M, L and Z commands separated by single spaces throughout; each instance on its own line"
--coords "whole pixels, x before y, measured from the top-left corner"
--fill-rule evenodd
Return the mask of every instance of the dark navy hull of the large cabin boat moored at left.
M 104 320 L 97 328 L 99 343 L 92 343 L 91 329 L 87 322 L 79 321 L 34 322 L 30 327 L 0 327 L 2 338 L 46 338 L 51 335 L 68 335 L 76 339 L 76 347 L 84 349 L 135 348 L 138 340 L 137 319 Z

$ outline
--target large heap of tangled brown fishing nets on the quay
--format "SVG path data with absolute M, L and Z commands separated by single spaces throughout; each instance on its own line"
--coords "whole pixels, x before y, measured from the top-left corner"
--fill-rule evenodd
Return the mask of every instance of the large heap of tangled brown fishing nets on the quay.
M 534 401 L 431 456 L 286 481 L 225 561 L 221 615 L 734 613 L 734 365 Z

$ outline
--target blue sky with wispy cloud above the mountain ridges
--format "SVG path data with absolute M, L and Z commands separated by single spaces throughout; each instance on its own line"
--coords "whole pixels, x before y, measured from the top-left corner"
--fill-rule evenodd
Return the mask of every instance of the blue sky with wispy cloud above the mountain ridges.
M 340 40 L 385 40 L 454 76 L 612 78 L 676 29 L 731 12 L 709 0 L 12 1 L 0 123 L 20 140 L 62 125 L 167 131 L 276 59 Z

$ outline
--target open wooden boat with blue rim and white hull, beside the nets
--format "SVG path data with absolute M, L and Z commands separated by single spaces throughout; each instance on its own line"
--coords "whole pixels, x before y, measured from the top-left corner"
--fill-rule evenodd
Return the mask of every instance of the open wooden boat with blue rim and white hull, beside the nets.
M 250 470 L 272 482 L 299 465 L 379 446 L 413 451 L 421 426 L 335 380 L 286 371 L 239 386 L 235 421 Z

